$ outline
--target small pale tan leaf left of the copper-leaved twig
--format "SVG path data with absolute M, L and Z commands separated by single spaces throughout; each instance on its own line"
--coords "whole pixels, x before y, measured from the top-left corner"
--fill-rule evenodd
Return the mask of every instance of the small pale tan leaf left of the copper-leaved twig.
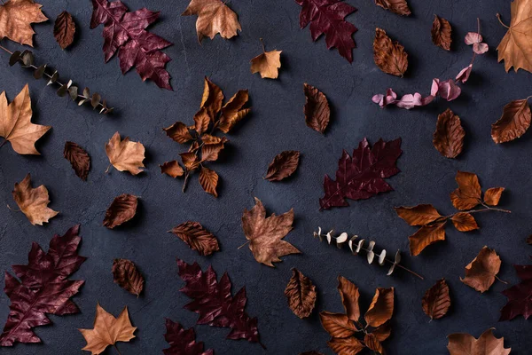
M 137 175 L 143 171 L 140 168 L 145 167 L 145 147 L 140 142 L 130 142 L 129 137 L 121 140 L 118 132 L 106 143 L 106 154 L 116 170 Z

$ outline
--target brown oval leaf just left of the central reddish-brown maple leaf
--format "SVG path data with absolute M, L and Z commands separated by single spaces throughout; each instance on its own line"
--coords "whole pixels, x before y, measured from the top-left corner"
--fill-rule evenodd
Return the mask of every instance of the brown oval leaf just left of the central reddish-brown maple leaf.
M 184 241 L 192 250 L 197 250 L 200 256 L 208 256 L 220 250 L 218 240 L 198 222 L 184 222 L 177 225 L 171 231 Z

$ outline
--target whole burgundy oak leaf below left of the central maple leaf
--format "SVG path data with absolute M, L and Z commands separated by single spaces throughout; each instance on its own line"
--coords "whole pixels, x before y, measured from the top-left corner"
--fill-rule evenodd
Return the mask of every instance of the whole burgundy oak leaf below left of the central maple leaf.
M 218 282 L 212 265 L 207 272 L 202 272 L 198 263 L 191 265 L 177 259 L 177 266 L 179 276 L 185 282 L 184 288 L 179 291 L 193 299 L 184 309 L 200 314 L 196 324 L 231 327 L 228 339 L 246 339 L 248 342 L 260 343 L 257 319 L 249 318 L 244 312 L 246 288 L 240 288 L 235 296 L 231 296 L 231 280 L 227 272 L 223 273 Z

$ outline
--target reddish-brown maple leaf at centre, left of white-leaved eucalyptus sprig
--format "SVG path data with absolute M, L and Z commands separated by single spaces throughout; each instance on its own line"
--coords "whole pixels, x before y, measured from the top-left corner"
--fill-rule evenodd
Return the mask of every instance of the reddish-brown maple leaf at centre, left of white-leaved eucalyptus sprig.
M 253 209 L 244 209 L 242 215 L 242 229 L 249 241 L 249 249 L 259 263 L 275 267 L 281 261 L 279 256 L 300 254 L 288 241 L 283 241 L 286 234 L 292 231 L 293 209 L 276 216 L 275 213 L 266 218 L 266 209 L 262 202 L 255 197 Z M 247 244 L 247 243 L 246 243 Z

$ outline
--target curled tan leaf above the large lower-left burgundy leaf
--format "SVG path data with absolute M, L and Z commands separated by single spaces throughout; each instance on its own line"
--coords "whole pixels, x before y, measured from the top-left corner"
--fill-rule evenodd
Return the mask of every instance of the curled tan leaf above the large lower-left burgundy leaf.
M 48 207 L 50 199 L 48 189 L 44 185 L 31 187 L 31 177 L 27 174 L 20 183 L 15 184 L 12 192 L 13 200 L 24 213 L 32 225 L 43 225 L 50 218 L 56 217 L 59 212 Z

